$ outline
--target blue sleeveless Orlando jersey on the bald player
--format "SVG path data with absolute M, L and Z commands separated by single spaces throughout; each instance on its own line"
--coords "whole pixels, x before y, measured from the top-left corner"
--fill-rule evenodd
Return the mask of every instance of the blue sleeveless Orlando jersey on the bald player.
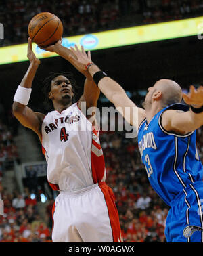
M 189 107 L 173 104 L 158 112 L 149 124 L 143 120 L 138 144 L 152 188 L 170 205 L 179 192 L 202 181 L 203 166 L 196 148 L 196 131 L 177 135 L 162 127 L 162 113 L 168 109 L 188 111 Z

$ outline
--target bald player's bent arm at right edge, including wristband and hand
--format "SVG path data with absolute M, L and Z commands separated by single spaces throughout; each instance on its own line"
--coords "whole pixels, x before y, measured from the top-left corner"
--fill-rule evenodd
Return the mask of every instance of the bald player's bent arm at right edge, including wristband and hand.
M 162 116 L 162 126 L 166 131 L 186 134 L 203 125 L 203 87 L 195 89 L 191 85 L 188 94 L 183 94 L 183 100 L 190 105 L 187 112 L 167 110 Z

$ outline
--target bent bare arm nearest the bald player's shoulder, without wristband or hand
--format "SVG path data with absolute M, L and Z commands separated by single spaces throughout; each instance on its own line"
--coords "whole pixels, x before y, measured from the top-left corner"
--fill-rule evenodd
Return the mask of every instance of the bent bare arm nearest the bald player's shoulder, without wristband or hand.
M 202 118 L 203 114 L 197 115 L 191 111 L 166 110 L 162 114 L 161 123 L 166 131 L 185 135 L 201 127 Z

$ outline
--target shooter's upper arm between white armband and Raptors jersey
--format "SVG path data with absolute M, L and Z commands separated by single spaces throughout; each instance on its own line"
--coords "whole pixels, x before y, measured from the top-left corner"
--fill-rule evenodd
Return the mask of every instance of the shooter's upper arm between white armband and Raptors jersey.
M 18 102 L 14 102 L 12 112 L 16 119 L 24 126 L 35 131 L 41 140 L 41 124 L 45 114 L 34 112 L 28 106 L 24 106 Z

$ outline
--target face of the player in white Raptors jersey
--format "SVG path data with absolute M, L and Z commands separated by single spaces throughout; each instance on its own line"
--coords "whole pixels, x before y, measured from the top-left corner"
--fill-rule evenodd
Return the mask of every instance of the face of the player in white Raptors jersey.
M 51 91 L 49 92 L 49 98 L 51 100 L 69 102 L 72 100 L 74 93 L 72 91 L 72 85 L 70 80 L 64 76 L 55 77 L 51 81 Z

